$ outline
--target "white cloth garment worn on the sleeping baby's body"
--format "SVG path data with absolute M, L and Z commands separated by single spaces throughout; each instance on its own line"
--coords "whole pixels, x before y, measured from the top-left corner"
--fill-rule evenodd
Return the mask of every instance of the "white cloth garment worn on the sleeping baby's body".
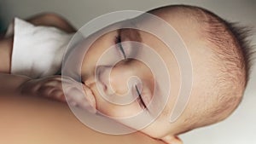
M 11 73 L 42 78 L 59 72 L 72 37 L 55 27 L 34 26 L 15 18 Z

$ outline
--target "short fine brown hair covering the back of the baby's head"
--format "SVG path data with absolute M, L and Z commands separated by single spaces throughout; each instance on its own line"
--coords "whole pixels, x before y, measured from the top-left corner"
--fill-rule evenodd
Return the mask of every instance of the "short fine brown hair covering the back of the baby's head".
M 188 131 L 217 123 L 238 107 L 247 86 L 254 52 L 248 39 L 250 28 L 228 22 L 207 9 L 187 5 L 174 7 L 194 14 L 194 19 L 201 26 L 202 38 L 207 39 L 208 47 L 212 49 L 211 65 L 218 69 L 212 76 L 215 79 L 212 106 L 201 112 L 203 116 L 191 114 L 189 127 L 185 130 Z M 194 124 L 191 123 L 193 118 L 196 118 Z

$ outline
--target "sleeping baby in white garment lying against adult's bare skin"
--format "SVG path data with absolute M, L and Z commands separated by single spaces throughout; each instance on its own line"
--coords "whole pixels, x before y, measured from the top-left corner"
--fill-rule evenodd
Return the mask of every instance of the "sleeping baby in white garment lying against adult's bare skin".
M 193 66 L 189 102 L 180 117 L 172 123 L 170 115 L 181 84 L 177 60 L 158 37 L 139 29 L 117 29 L 97 37 L 83 57 L 81 79 L 76 81 L 76 78 L 61 78 L 60 75 L 63 55 L 73 37 L 74 28 L 66 20 L 52 14 L 27 21 L 15 18 L 0 41 L 0 72 L 26 77 L 26 80 L 15 83 L 22 94 L 70 101 L 74 106 L 96 110 L 109 117 L 127 118 L 141 111 L 151 111 L 153 73 L 140 60 L 129 58 L 136 48 L 125 47 L 125 43 L 129 42 L 146 44 L 166 63 L 172 93 L 160 115 L 140 131 L 166 143 L 182 143 L 177 135 L 224 120 L 241 102 L 250 67 L 246 32 L 206 9 L 194 6 L 166 6 L 148 13 L 165 20 L 183 38 Z M 137 27 L 150 25 L 150 22 L 136 18 L 132 21 Z M 116 56 L 123 57 L 123 60 L 112 67 L 98 67 L 97 60 L 113 45 L 117 47 Z M 140 79 L 141 86 L 128 89 L 126 82 L 134 76 Z M 132 94 L 138 95 L 136 101 L 126 105 L 107 101 L 96 86 L 96 77 L 101 80 L 103 93 L 124 95 L 131 90 L 134 91 Z M 70 85 L 70 93 L 64 95 L 62 83 Z M 78 84 L 83 85 L 86 95 L 76 89 Z

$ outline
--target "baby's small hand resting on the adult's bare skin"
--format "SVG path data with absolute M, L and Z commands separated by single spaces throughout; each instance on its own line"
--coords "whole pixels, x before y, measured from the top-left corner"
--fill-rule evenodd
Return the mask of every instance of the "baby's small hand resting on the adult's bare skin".
M 82 107 L 90 112 L 95 112 L 91 107 L 91 101 L 87 95 L 84 95 L 83 89 L 89 89 L 82 84 L 83 89 L 79 89 L 81 83 L 73 78 L 50 76 L 47 78 L 32 79 L 22 84 L 21 94 L 40 95 L 55 99 L 56 101 L 67 101 L 72 106 Z M 65 95 L 62 86 L 65 85 Z M 65 98 L 66 96 L 66 98 Z

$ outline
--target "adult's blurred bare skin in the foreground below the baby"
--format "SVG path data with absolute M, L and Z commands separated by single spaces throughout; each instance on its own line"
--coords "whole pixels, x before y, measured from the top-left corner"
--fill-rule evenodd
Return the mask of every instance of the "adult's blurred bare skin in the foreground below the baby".
M 147 135 L 105 135 L 79 122 L 65 103 L 43 97 L 0 94 L 0 143 L 162 144 Z

